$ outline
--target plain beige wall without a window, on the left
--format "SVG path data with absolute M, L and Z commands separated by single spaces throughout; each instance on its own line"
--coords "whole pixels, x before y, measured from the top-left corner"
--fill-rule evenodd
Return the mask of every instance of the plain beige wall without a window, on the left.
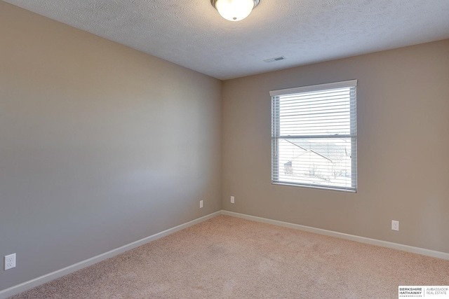
M 220 81 L 3 1 L 0 41 L 0 290 L 221 209 Z

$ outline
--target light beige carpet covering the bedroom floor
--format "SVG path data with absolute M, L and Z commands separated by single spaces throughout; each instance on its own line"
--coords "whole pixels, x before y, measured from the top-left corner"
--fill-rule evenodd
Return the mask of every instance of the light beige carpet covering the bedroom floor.
M 217 216 L 11 299 L 398 298 L 449 260 Z

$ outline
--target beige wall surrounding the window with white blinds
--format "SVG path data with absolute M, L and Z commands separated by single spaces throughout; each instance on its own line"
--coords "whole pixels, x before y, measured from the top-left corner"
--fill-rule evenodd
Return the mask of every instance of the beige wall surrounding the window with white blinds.
M 351 79 L 357 193 L 272 185 L 269 91 Z M 448 82 L 449 40 L 225 81 L 223 209 L 449 253 Z

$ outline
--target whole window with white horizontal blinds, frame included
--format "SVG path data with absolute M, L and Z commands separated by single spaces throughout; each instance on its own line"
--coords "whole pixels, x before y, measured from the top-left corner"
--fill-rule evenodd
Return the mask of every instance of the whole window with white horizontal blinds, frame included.
M 272 183 L 356 192 L 357 81 L 273 90 Z

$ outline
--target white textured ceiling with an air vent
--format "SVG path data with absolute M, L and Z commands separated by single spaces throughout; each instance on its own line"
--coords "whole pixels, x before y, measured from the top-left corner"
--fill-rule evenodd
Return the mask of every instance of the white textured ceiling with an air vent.
M 219 79 L 449 39 L 449 0 L 260 0 L 240 22 L 210 0 L 6 2 Z

